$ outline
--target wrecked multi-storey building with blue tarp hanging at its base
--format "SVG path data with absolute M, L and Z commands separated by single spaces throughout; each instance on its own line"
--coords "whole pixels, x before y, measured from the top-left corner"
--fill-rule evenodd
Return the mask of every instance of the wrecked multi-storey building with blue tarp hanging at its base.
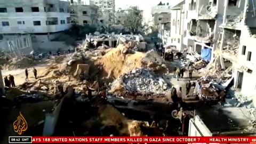
M 207 61 L 213 59 L 213 51 L 217 47 L 223 3 L 217 0 L 185 0 L 184 48 L 198 52 Z

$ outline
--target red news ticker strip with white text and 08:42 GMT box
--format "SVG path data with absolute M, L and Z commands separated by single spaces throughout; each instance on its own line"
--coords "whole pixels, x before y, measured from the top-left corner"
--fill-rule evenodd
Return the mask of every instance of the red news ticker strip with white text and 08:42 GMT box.
M 9 143 L 254 143 L 256 137 L 9 137 Z

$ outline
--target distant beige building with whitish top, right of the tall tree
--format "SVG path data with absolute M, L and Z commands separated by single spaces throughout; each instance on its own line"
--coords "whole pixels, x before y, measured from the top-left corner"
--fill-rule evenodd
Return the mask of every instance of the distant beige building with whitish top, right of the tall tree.
M 171 20 L 171 6 L 160 2 L 158 5 L 151 7 L 151 14 L 154 17 L 154 24 L 170 22 Z

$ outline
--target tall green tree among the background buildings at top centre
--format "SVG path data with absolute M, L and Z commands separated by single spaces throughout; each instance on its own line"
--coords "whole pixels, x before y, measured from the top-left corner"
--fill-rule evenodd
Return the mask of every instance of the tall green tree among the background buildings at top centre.
M 137 6 L 130 7 L 126 10 L 124 27 L 125 29 L 137 33 L 142 30 L 142 14 Z

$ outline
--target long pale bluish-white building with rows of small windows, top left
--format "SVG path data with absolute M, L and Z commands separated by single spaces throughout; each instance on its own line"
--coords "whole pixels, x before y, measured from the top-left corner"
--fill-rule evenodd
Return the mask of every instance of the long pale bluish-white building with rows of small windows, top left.
M 47 7 L 50 4 L 54 5 L 54 9 Z M 70 17 L 68 2 L 58 0 L 2 0 L 0 7 L 7 10 L 7 12 L 0 13 L 0 33 L 3 34 L 54 33 L 70 27 L 70 23 L 67 21 Z M 16 12 L 15 7 L 22 7 L 23 12 Z M 39 12 L 31 12 L 31 7 L 38 7 Z M 47 18 L 58 18 L 58 25 L 46 25 Z M 62 23 L 62 20 L 65 23 Z M 18 21 L 21 21 L 20 25 Z M 40 25 L 34 26 L 33 21 L 40 21 Z M 5 26 L 3 22 L 8 22 L 9 26 Z

